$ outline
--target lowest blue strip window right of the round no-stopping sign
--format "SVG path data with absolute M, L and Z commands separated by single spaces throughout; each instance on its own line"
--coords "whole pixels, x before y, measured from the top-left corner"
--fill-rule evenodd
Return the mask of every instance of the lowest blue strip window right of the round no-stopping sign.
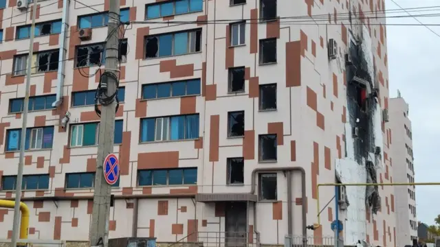
M 137 185 L 197 185 L 197 168 L 139 170 Z

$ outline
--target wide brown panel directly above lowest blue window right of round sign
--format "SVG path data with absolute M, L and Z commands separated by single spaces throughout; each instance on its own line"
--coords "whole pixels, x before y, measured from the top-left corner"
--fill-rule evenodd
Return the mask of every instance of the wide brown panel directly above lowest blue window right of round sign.
M 179 151 L 146 152 L 137 154 L 137 169 L 179 167 Z

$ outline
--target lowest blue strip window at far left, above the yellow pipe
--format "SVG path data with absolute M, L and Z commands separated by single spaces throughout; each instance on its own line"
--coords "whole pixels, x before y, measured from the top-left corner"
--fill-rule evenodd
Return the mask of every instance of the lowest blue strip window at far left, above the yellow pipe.
M 14 190 L 17 186 L 17 176 L 2 176 L 1 190 Z M 21 189 L 49 189 L 49 174 L 24 175 Z

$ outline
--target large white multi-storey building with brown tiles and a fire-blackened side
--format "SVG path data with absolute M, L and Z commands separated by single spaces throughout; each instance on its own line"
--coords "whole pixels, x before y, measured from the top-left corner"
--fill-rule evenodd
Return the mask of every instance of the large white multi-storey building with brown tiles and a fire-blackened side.
M 32 3 L 17 1 L 0 0 L 3 198 L 14 198 L 29 56 Z M 339 215 L 344 242 L 395 246 L 392 187 L 340 187 L 328 207 L 335 189 L 318 188 L 392 180 L 383 0 L 120 3 L 130 23 L 119 33 L 110 237 L 283 244 L 311 235 L 318 244 Z M 87 240 L 102 176 L 94 91 L 109 0 L 38 4 L 22 195 L 29 233 Z M 3 237 L 12 215 L 1 211 Z

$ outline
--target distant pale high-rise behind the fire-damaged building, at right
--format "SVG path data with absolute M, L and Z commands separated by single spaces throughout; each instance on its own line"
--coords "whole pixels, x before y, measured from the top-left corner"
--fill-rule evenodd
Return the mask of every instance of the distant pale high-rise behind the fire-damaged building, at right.
M 415 183 L 414 156 L 412 154 L 412 128 L 408 104 L 401 97 L 390 99 L 389 123 L 391 133 L 391 156 L 396 183 Z M 415 186 L 396 186 L 396 224 L 398 246 L 411 244 L 417 239 Z

